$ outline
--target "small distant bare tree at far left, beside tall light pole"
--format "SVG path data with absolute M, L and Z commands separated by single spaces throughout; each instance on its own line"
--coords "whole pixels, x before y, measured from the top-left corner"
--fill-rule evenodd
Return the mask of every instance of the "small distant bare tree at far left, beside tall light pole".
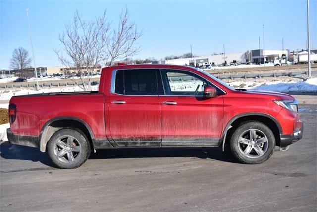
M 10 67 L 11 69 L 21 70 L 21 76 L 23 76 L 23 69 L 29 68 L 31 61 L 29 52 L 26 49 L 19 47 L 13 50 Z

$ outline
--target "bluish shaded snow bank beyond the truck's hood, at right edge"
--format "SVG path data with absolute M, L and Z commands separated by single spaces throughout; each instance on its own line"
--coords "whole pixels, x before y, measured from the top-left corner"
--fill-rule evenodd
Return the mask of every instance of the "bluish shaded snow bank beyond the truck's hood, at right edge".
M 274 82 L 268 85 L 250 87 L 249 89 L 276 91 L 276 92 L 284 92 L 284 93 L 317 92 L 317 78 L 311 78 L 303 82 L 280 82 L 280 83 Z

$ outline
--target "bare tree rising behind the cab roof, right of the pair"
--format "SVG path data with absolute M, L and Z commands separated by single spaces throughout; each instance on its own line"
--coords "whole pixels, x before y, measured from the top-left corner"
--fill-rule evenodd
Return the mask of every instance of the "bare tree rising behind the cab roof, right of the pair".
M 140 38 L 142 32 L 138 32 L 135 23 L 129 22 L 128 9 L 125 8 L 120 14 L 120 21 L 117 29 L 113 29 L 106 41 L 105 62 L 111 66 L 115 60 L 136 55 L 140 51 L 140 46 L 136 46 L 136 40 Z

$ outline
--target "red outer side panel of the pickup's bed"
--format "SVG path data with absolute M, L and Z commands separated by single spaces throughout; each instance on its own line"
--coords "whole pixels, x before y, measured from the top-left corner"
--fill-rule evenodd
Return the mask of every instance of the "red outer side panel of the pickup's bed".
M 82 120 L 94 129 L 94 136 L 105 137 L 105 95 L 92 92 L 57 92 L 13 96 L 16 120 L 11 131 L 17 135 L 39 136 L 46 122 L 62 117 Z

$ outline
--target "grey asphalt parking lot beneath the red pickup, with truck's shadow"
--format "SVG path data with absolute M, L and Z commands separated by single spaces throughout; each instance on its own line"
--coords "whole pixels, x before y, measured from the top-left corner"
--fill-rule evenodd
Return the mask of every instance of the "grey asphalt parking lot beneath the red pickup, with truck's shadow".
M 303 139 L 259 165 L 218 148 L 119 149 L 61 170 L 1 143 L 0 211 L 316 211 L 317 105 L 300 113 Z

